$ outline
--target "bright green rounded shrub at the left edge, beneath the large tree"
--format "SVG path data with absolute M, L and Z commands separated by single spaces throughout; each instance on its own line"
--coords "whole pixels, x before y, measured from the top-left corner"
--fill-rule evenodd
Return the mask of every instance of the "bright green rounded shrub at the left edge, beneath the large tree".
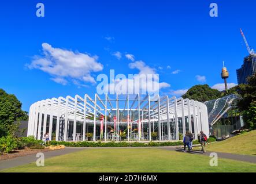
M 1 154 L 16 150 L 17 149 L 17 140 L 12 136 L 6 136 L 0 138 L 0 152 Z

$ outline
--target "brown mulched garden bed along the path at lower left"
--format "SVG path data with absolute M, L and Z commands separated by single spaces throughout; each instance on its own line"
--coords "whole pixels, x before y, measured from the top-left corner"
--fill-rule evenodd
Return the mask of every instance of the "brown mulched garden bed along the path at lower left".
M 10 152 L 9 154 L 3 154 L 3 155 L 0 154 L 0 161 L 16 158 L 20 156 L 37 154 L 38 152 L 47 152 L 47 151 L 50 151 L 50 149 L 49 148 L 44 148 L 44 149 L 25 148 L 24 150 L 15 150 Z

